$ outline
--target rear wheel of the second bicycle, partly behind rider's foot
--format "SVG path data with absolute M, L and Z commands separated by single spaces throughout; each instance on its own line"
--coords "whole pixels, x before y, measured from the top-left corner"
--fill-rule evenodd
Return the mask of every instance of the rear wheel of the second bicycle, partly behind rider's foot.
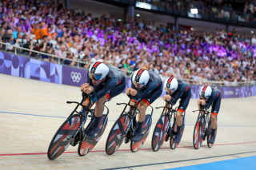
M 140 149 L 142 147 L 142 145 L 146 141 L 146 137 L 150 133 L 151 124 L 152 124 L 152 118 L 151 118 L 151 115 L 148 114 L 148 115 L 146 115 L 145 121 L 142 125 L 142 136 L 141 136 L 140 140 L 130 142 L 130 150 L 132 152 L 137 152 L 138 149 Z

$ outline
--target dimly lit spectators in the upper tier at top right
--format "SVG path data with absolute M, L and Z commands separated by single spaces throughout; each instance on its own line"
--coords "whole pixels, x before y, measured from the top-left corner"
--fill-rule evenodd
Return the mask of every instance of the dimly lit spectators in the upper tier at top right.
M 253 1 L 235 2 L 230 0 L 138 0 L 161 8 L 190 12 L 197 8 L 198 14 L 214 18 L 234 19 L 240 22 L 256 22 L 256 4 Z

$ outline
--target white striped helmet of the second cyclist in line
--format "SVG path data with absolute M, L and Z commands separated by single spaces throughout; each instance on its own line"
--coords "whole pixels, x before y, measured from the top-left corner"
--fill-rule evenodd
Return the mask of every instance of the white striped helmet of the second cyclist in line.
M 134 84 L 137 83 L 144 86 L 150 80 L 150 74 L 146 69 L 138 69 L 133 73 L 131 78 Z

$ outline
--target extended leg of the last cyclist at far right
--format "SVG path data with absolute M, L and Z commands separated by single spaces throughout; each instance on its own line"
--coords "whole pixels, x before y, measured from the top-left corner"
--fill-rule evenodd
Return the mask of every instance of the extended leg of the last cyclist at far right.
M 214 101 L 214 104 L 212 106 L 211 114 L 210 114 L 210 121 L 211 121 L 211 138 L 209 143 L 214 144 L 215 140 L 215 132 L 217 129 L 217 116 L 218 116 L 218 111 L 221 105 L 222 97 L 221 94 L 219 93 L 219 96 L 216 101 Z

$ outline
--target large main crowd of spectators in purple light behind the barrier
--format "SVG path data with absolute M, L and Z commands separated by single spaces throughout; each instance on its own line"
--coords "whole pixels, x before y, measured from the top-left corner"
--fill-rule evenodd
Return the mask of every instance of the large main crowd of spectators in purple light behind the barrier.
M 153 26 L 142 18 L 118 21 L 110 14 L 94 18 L 82 10 L 70 10 L 53 1 L 1 1 L 2 42 L 62 57 L 68 61 L 102 61 L 130 72 L 145 68 L 163 79 L 174 76 L 190 83 L 222 81 L 225 85 L 256 81 L 256 37 L 246 38 L 236 30 L 226 33 L 177 33 L 167 26 Z M 6 50 L 14 50 L 6 45 Z M 45 61 L 58 59 L 37 53 Z M 130 72 L 129 72 L 130 71 Z

